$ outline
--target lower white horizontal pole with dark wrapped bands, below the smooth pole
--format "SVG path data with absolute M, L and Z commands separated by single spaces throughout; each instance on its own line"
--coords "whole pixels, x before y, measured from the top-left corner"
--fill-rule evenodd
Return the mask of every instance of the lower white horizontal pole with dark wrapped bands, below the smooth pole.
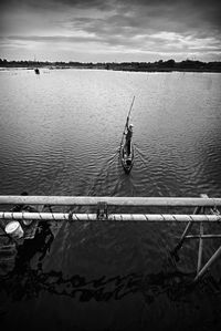
M 35 220 L 97 220 L 96 214 L 65 214 L 65 213 L 12 213 L 1 211 L 0 219 L 35 219 Z M 221 216 L 218 215 L 181 215 L 181 214 L 109 214 L 107 220 L 116 221 L 203 221 L 219 223 Z

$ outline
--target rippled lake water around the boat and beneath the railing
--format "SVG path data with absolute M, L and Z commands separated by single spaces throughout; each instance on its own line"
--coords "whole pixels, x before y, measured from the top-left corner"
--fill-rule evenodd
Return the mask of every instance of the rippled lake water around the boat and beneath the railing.
M 1 195 L 221 197 L 221 74 L 8 70 L 0 85 Z M 134 95 L 128 176 L 118 148 Z M 169 259 L 183 228 L 44 226 L 0 265 L 0 318 L 13 330 L 220 330 L 220 261 L 187 290 L 198 242 Z M 219 245 L 206 240 L 203 262 Z

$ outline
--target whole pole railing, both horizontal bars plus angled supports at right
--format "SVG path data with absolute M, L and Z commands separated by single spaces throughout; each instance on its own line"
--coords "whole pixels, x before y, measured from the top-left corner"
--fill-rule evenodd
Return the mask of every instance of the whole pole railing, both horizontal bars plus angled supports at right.
M 198 281 L 209 267 L 221 255 L 221 246 L 202 267 L 203 239 L 221 238 L 220 235 L 203 234 L 203 224 L 221 223 L 218 207 L 221 198 L 209 198 L 201 195 L 200 198 L 175 198 L 175 197 L 70 197 L 70 196 L 0 196 L 0 205 L 48 205 L 48 206 L 96 206 L 96 214 L 70 213 L 13 213 L 1 211 L 0 219 L 35 219 L 35 220 L 67 220 L 67 221 L 147 221 L 147 223 L 188 223 L 179 242 L 171 251 L 175 258 L 187 239 L 199 239 L 198 266 L 194 281 Z M 193 214 L 109 214 L 108 207 L 196 207 Z M 138 210 L 138 209 L 137 209 Z M 206 213 L 207 211 L 207 213 Z M 189 235 L 193 224 L 199 224 L 199 235 Z

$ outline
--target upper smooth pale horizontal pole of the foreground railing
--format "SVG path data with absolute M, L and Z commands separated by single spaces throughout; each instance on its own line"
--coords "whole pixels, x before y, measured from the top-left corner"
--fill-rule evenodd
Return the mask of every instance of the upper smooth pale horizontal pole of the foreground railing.
M 91 197 L 91 196 L 0 196 L 0 205 L 94 206 L 162 206 L 162 207 L 218 207 L 221 198 L 181 197 Z

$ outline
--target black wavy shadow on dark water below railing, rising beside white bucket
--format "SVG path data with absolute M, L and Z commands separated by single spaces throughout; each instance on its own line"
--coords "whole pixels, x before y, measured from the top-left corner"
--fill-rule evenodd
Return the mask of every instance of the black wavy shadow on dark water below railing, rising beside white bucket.
M 162 271 L 150 275 L 136 272 L 114 277 L 103 275 L 88 280 L 81 275 L 65 278 L 62 271 L 44 272 L 42 262 L 53 240 L 50 224 L 40 221 L 34 239 L 24 240 L 18 248 L 13 270 L 0 277 L 1 290 L 13 301 L 36 298 L 42 291 L 48 291 L 74 298 L 80 302 L 120 300 L 126 296 L 140 293 L 146 302 L 151 303 L 161 293 L 171 301 L 180 301 L 196 288 L 191 285 L 193 275 L 180 271 L 169 259 Z M 33 258 L 34 268 L 31 267 Z M 197 286 L 221 293 L 221 279 L 218 282 L 211 276 L 206 277 Z

